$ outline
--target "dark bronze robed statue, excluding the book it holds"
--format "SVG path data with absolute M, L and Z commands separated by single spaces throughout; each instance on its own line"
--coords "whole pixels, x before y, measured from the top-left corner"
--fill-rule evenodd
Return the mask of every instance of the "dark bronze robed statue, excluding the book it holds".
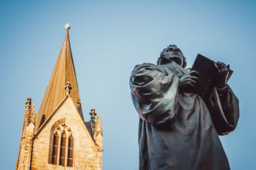
M 230 169 L 218 137 L 235 130 L 239 120 L 239 100 L 227 85 L 229 66 L 216 62 L 216 85 L 205 101 L 193 93 L 197 71 L 185 66 L 181 50 L 170 45 L 157 65 L 143 63 L 132 71 L 140 170 Z

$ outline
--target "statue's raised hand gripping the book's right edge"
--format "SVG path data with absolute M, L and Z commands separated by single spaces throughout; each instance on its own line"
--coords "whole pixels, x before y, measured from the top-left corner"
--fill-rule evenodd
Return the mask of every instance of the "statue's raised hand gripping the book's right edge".
M 229 65 L 226 66 L 224 62 L 216 62 L 214 63 L 216 68 L 216 88 L 223 89 L 227 85 L 227 74 L 229 72 Z

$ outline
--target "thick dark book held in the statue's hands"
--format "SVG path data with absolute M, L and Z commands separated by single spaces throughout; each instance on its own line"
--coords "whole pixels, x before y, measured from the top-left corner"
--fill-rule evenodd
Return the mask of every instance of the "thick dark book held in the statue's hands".
M 216 68 L 214 66 L 216 62 L 212 61 L 204 57 L 203 55 L 198 54 L 197 59 L 193 63 L 191 70 L 196 70 L 199 75 L 199 83 L 195 89 L 193 89 L 194 93 L 197 93 L 201 96 L 204 101 L 208 100 L 213 87 L 216 85 L 215 77 L 216 77 Z M 233 73 L 232 70 L 227 74 L 227 80 L 231 77 Z

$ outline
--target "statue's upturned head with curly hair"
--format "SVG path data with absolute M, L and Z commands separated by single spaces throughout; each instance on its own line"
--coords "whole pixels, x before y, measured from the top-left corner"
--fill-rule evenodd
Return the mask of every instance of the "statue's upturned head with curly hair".
M 181 50 L 176 45 L 170 45 L 162 50 L 160 57 L 157 61 L 157 64 L 162 65 L 168 62 L 176 62 L 178 65 L 185 68 L 187 62 L 185 62 L 185 57 L 182 54 Z

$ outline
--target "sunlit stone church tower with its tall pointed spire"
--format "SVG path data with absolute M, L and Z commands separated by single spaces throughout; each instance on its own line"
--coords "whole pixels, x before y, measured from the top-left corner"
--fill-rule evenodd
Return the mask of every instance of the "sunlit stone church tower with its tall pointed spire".
M 38 113 L 30 97 L 25 102 L 17 170 L 102 169 L 101 116 L 93 108 L 91 120 L 83 119 L 69 40 L 70 25 L 65 28 L 63 47 Z

